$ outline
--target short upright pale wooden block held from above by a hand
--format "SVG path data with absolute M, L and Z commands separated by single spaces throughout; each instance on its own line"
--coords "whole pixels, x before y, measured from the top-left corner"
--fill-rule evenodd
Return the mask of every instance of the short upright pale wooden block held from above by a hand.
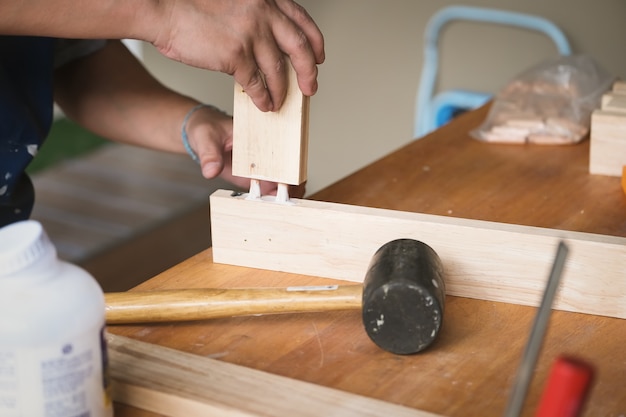
M 299 185 L 307 179 L 309 97 L 298 88 L 288 63 L 289 87 L 276 112 L 262 112 L 235 83 L 233 174 Z

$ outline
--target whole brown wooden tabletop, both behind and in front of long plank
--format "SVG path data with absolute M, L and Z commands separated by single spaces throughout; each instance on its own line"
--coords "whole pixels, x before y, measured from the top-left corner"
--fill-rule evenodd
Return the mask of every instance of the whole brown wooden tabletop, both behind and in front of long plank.
M 485 114 L 483 108 L 462 115 L 310 198 L 626 237 L 626 196 L 619 178 L 588 174 L 588 141 L 484 144 L 468 132 Z M 332 282 L 214 264 L 208 249 L 137 288 Z M 109 331 L 442 416 L 486 417 L 504 412 L 535 312 L 448 296 L 439 339 L 410 356 L 377 348 L 354 311 L 109 326 Z M 626 414 L 625 340 L 624 320 L 553 312 L 523 415 L 534 415 L 560 354 L 596 368 L 584 416 Z M 157 414 L 117 405 L 116 416 Z

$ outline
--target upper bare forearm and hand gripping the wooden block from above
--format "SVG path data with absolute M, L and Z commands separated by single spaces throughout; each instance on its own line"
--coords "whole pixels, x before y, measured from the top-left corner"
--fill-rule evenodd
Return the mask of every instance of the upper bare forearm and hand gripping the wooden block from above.
M 317 91 L 324 40 L 292 0 L 0 0 L 0 34 L 139 39 L 168 58 L 233 75 L 261 110 L 280 107 L 285 56 Z

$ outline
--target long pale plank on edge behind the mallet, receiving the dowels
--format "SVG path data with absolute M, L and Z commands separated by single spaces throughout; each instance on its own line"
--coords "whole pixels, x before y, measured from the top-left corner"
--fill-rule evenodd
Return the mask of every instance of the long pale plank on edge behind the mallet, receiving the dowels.
M 360 282 L 374 252 L 397 238 L 430 245 L 450 295 L 539 304 L 556 245 L 570 247 L 555 308 L 626 318 L 626 239 L 291 199 L 210 198 L 214 261 Z

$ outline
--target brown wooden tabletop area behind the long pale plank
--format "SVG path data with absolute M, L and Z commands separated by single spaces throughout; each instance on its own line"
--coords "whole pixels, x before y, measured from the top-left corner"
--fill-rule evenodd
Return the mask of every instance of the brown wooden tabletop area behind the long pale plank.
M 589 141 L 498 145 L 462 115 L 311 199 L 626 237 L 619 178 L 589 174 Z

